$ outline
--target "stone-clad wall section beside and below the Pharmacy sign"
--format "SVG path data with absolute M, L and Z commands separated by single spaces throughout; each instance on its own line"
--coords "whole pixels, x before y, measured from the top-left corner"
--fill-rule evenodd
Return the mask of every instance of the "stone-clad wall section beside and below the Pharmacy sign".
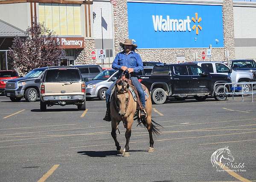
M 94 39 L 84 39 L 84 49 L 76 49 L 75 51 L 76 65 L 93 64 L 92 51 L 95 51 Z

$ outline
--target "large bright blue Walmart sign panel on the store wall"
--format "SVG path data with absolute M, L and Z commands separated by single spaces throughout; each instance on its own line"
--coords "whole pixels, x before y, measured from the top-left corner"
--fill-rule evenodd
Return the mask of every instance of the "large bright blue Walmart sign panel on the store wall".
M 221 6 L 127 4 L 129 38 L 138 48 L 224 47 Z

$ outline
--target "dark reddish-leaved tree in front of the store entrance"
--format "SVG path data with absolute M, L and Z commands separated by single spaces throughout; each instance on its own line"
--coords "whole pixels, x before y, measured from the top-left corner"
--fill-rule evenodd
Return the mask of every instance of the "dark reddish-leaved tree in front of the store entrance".
M 21 74 L 35 68 L 58 65 L 65 55 L 53 31 L 43 23 L 33 22 L 32 25 L 26 30 L 27 37 L 15 37 L 12 47 L 9 48 L 11 65 Z

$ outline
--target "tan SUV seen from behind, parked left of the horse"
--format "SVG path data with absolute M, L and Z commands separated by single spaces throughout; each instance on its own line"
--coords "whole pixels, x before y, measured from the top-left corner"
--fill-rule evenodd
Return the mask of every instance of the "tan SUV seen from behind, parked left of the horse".
M 41 111 L 53 105 L 77 105 L 79 110 L 86 109 L 86 88 L 78 68 L 47 68 L 42 80 L 35 82 L 41 83 Z

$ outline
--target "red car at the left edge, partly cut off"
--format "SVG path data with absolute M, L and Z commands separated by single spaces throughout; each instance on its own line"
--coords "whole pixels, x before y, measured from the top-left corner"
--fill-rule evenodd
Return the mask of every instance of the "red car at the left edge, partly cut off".
M 12 80 L 18 77 L 19 77 L 19 74 L 15 70 L 0 71 L 0 93 L 4 93 L 7 80 Z

